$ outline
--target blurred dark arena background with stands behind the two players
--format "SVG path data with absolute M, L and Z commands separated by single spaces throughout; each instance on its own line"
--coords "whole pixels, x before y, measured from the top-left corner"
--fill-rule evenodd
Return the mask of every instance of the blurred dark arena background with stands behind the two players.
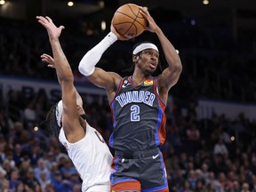
M 66 27 L 61 44 L 76 87 L 90 124 L 108 140 L 112 124 L 105 92 L 81 76 L 77 66 L 106 36 L 116 9 L 133 3 L 148 7 L 183 64 L 180 80 L 170 91 L 161 148 L 171 191 L 256 191 L 256 1 L 73 3 L 0 0 L 0 188 L 79 191 L 79 177 L 64 148 L 40 124 L 60 100 L 60 87 L 55 72 L 40 60 L 42 53 L 52 51 L 36 15 L 48 15 Z M 128 76 L 124 69 L 132 65 L 133 44 L 148 38 L 158 44 L 148 32 L 116 42 L 98 66 Z

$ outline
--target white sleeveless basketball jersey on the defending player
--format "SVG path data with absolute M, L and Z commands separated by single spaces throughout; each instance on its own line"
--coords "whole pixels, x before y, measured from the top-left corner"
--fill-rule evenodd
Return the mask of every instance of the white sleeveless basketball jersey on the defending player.
M 83 180 L 82 191 L 110 191 L 109 177 L 113 156 L 100 133 L 86 124 L 85 137 L 76 143 L 69 143 L 61 128 L 59 140 L 67 149 L 69 158 Z

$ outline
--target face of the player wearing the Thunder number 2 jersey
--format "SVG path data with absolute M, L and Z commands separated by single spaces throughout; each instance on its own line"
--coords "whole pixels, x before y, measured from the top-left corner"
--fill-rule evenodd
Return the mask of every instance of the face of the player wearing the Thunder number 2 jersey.
M 142 51 L 140 57 L 140 61 L 138 62 L 138 64 L 140 64 L 138 67 L 141 68 L 142 71 L 151 75 L 157 68 L 159 53 L 156 52 L 156 50 L 147 49 Z

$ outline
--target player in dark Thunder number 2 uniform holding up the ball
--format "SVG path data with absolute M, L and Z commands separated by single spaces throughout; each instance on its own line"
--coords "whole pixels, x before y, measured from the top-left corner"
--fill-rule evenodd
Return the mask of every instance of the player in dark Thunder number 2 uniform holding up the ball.
M 182 65 L 180 57 L 149 12 L 140 8 L 148 20 L 148 31 L 155 33 L 169 65 L 161 75 L 151 76 L 159 60 L 155 44 L 135 45 L 132 52 L 132 76 L 121 77 L 114 72 L 95 68 L 102 54 L 117 39 L 113 24 L 108 36 L 87 52 L 79 71 L 99 87 L 105 88 L 112 110 L 114 131 L 109 144 L 115 149 L 110 175 L 111 189 L 116 192 L 169 191 L 160 145 L 165 140 L 165 115 L 168 92 L 177 83 Z

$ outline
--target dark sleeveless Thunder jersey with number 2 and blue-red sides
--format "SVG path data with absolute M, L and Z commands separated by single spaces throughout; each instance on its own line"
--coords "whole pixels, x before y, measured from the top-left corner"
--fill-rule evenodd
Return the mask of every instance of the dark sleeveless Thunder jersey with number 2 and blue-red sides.
M 109 145 L 120 151 L 156 148 L 165 140 L 165 104 L 160 99 L 156 77 L 135 85 L 132 76 L 120 80 L 110 104 L 114 130 Z

